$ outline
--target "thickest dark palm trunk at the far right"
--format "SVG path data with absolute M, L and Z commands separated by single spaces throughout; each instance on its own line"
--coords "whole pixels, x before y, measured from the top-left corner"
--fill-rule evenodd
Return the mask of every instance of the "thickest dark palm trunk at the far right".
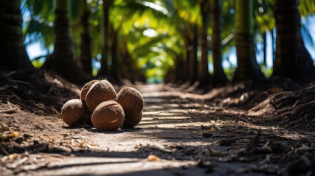
M 277 39 L 273 76 L 314 79 L 315 67 L 302 41 L 298 3 L 297 0 L 275 1 Z

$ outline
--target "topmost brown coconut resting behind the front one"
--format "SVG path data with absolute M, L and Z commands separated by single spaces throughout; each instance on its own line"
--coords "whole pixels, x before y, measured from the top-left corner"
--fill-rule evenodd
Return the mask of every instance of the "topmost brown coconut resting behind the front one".
M 95 82 L 86 95 L 86 103 L 91 112 L 103 101 L 115 100 L 117 93 L 114 86 L 107 80 Z

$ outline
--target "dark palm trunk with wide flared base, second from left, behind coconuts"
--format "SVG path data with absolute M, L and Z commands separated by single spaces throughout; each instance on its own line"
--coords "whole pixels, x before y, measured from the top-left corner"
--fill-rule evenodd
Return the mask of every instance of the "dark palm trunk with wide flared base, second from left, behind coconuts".
M 69 81 L 86 82 L 90 78 L 85 74 L 81 63 L 76 59 L 72 46 L 68 17 L 69 1 L 54 1 L 54 52 L 45 62 L 44 68 L 56 71 Z

